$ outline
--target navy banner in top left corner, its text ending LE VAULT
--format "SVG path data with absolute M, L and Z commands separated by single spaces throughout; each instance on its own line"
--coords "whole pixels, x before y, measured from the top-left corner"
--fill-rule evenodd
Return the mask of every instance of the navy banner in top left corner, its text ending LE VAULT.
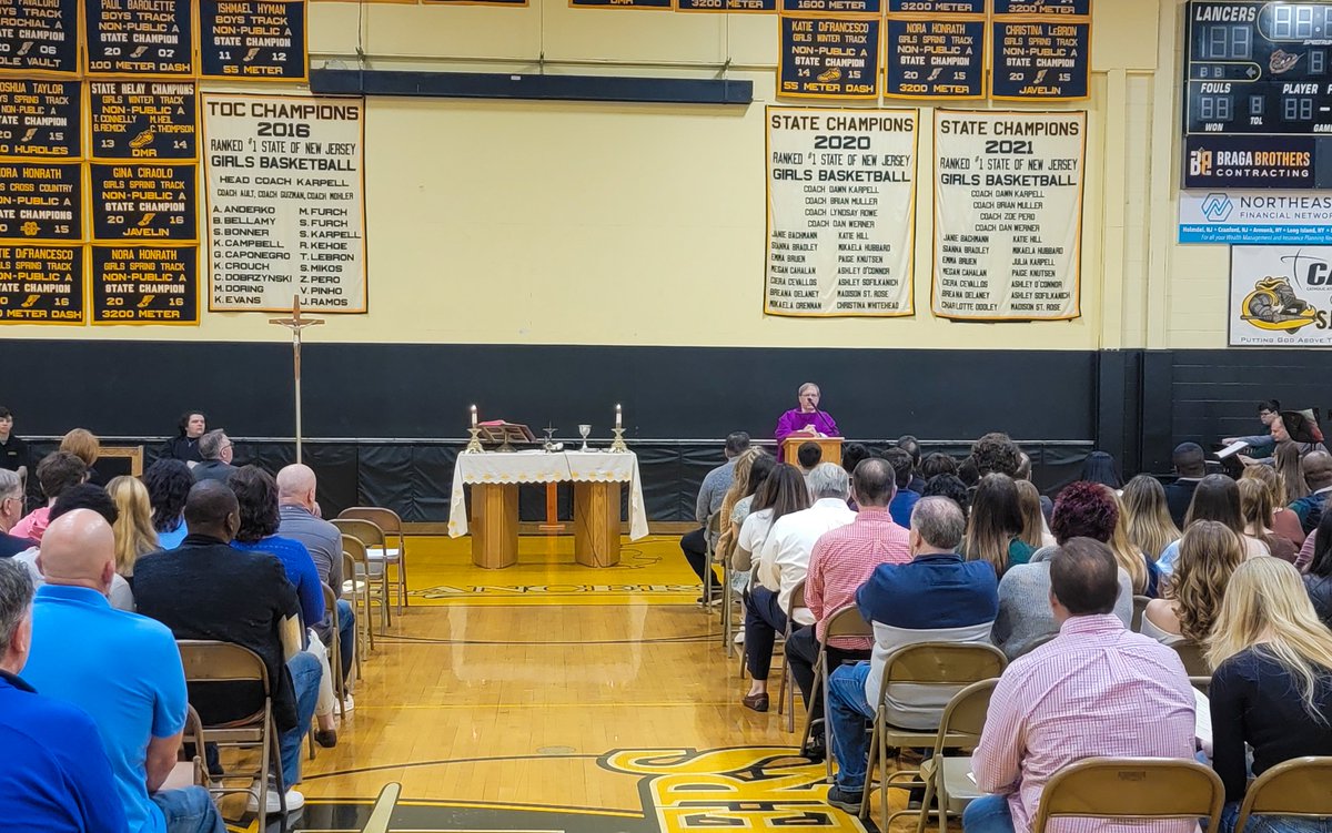
M 79 0 L 0 0 L 0 73 L 79 75 Z

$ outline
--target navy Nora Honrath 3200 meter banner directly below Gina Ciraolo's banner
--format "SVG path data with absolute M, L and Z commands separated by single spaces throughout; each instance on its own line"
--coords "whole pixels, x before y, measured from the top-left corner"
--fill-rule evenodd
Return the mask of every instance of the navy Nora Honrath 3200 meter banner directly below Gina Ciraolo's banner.
M 92 248 L 92 322 L 198 323 L 198 248 Z

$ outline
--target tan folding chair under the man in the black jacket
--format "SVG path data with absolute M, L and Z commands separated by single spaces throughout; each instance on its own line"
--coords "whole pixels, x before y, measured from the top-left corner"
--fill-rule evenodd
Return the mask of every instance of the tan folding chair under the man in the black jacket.
M 201 724 L 202 741 L 218 747 L 258 748 L 258 770 L 245 777 L 254 778 L 253 786 L 214 786 L 214 796 L 246 793 L 254 796 L 262 817 L 268 806 L 268 773 L 273 772 L 277 785 L 281 813 L 281 829 L 286 830 L 286 786 L 282 784 L 282 753 L 277 743 L 277 725 L 273 723 L 273 691 L 269 687 L 268 668 L 264 660 L 249 648 L 232 643 L 209 640 L 177 640 L 180 661 L 185 668 L 185 683 L 254 683 L 264 692 L 264 704 L 254 713 L 241 720 L 217 725 Z M 234 777 L 228 773 L 226 777 Z M 261 822 L 262 824 L 262 822 Z

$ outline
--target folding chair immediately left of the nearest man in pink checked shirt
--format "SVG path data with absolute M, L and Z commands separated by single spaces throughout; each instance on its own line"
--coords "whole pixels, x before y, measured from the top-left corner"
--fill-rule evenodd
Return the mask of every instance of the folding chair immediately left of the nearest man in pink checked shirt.
M 990 696 L 999 680 L 980 680 L 963 688 L 943 711 L 939 733 L 934 739 L 934 754 L 920 762 L 920 777 L 924 781 L 924 801 L 920 802 L 916 818 L 916 833 L 924 833 L 924 822 L 930 817 L 930 804 L 939 797 L 939 833 L 948 833 L 948 816 L 960 817 L 967 805 L 983 796 L 976 789 L 971 772 L 970 754 L 944 754 L 944 747 L 974 749 L 980 743 L 980 732 L 986 728 L 986 713 L 990 711 Z M 888 824 L 902 813 L 888 817 Z

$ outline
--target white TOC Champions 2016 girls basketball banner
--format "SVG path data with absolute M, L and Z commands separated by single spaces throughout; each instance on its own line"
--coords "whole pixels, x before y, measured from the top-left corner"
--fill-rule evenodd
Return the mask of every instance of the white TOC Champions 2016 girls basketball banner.
M 210 310 L 364 313 L 365 102 L 204 96 Z

